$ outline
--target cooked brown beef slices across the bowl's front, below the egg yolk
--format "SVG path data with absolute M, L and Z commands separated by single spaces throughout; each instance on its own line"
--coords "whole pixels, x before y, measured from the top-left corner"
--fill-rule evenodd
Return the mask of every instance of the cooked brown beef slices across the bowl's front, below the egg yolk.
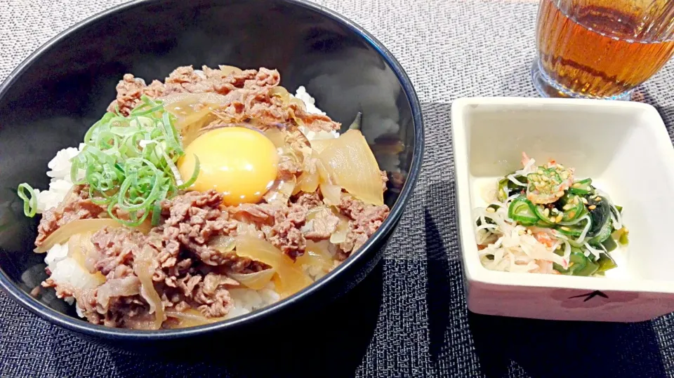
M 74 203 L 78 201 L 86 200 L 79 198 Z M 257 227 L 260 237 L 294 259 L 305 252 L 308 239 L 328 239 L 339 222 L 319 194 L 299 194 L 286 207 L 260 204 L 220 210 L 221 203 L 222 196 L 216 191 L 187 192 L 162 203 L 161 225 L 147 235 L 126 227 L 102 229 L 91 238 L 95 251 L 88 258 L 94 259 L 96 271 L 106 276 L 103 285 L 85 292 L 68 290 L 49 280 L 45 285 L 54 286 L 62 296 L 76 297 L 91 323 L 147 327 L 154 318 L 134 274 L 134 256 L 142 248 L 150 248 L 154 289 L 164 309 L 197 309 L 206 317 L 226 316 L 233 306 L 229 289 L 239 284 L 222 269 L 251 273 L 268 266 L 238 257 L 235 252 L 220 253 L 210 248 L 213 236 L 235 236 L 239 224 L 245 222 L 246 227 Z M 77 205 L 65 208 L 76 214 L 80 209 Z M 385 205 L 367 205 L 348 195 L 343 195 L 336 209 L 349 220 L 347 239 L 336 248 L 336 256 L 341 259 L 362 246 L 389 211 Z

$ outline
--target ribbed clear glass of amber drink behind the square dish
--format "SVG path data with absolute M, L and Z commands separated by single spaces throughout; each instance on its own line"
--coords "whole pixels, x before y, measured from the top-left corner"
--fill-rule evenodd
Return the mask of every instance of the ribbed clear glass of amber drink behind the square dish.
M 654 28 L 649 22 L 667 22 L 668 16 L 654 13 L 668 10 L 639 8 L 639 3 L 541 0 L 536 30 L 538 69 L 560 95 L 619 96 L 665 65 L 674 52 L 674 40 L 667 27 Z

